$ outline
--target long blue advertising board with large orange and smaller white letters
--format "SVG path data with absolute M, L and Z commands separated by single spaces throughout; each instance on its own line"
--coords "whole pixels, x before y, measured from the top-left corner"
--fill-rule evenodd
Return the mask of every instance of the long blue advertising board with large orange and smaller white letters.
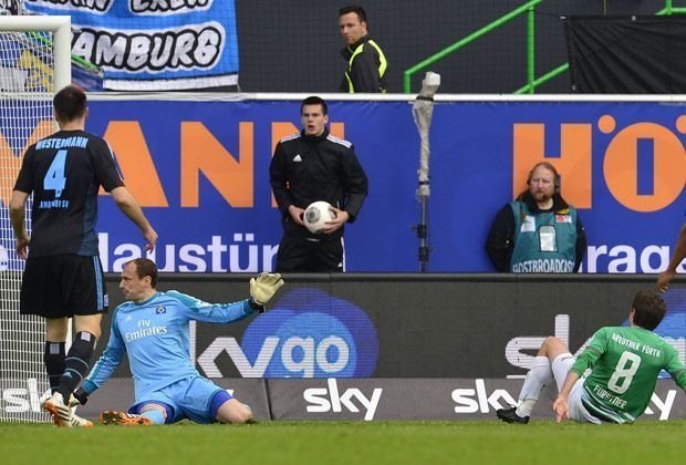
M 269 163 L 277 142 L 300 128 L 299 101 L 103 100 L 90 107 L 87 130 L 113 146 L 159 234 L 162 270 L 273 269 L 281 225 Z M 347 270 L 418 270 L 419 137 L 410 105 L 332 101 L 329 114 L 332 133 L 354 143 L 370 178 L 367 200 L 346 228 Z M 676 104 L 438 103 L 428 270 L 492 271 L 484 246 L 491 221 L 543 159 L 558 167 L 562 195 L 585 227 L 583 271 L 664 269 L 684 221 L 684 134 Z M 98 230 L 106 271 L 141 256 L 139 232 L 108 198 Z

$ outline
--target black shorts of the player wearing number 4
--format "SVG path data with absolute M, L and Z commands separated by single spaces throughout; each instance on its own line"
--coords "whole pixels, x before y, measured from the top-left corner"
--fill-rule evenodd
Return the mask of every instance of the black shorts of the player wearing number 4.
M 44 318 L 106 313 L 110 302 L 100 257 L 29 257 L 21 280 L 20 313 Z

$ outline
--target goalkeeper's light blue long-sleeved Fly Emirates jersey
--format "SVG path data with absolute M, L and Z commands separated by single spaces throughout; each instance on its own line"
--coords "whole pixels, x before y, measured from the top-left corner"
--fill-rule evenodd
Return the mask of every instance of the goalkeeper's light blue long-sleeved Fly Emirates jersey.
M 112 317 L 107 348 L 83 382 L 92 393 L 118 366 L 124 352 L 134 376 L 136 402 L 188 376 L 199 376 L 190 361 L 190 320 L 230 323 L 252 314 L 248 300 L 207 303 L 177 291 L 156 292 L 148 300 L 118 306 Z

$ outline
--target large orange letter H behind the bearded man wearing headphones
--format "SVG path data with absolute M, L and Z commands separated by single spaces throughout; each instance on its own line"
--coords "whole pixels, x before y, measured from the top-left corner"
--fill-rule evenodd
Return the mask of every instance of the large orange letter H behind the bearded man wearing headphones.
M 592 132 L 590 124 L 560 125 L 560 157 L 545 154 L 544 124 L 514 124 L 512 197 L 527 188 L 531 167 L 540 162 L 554 165 L 562 178 L 562 196 L 576 208 L 591 208 Z

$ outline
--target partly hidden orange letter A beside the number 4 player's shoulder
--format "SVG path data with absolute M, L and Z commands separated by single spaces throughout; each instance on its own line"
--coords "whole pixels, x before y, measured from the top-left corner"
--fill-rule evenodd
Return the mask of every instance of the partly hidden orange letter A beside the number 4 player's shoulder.
M 104 138 L 112 146 L 124 184 L 142 207 L 168 207 L 155 163 L 137 121 L 113 121 Z M 100 194 L 105 194 L 101 187 Z

